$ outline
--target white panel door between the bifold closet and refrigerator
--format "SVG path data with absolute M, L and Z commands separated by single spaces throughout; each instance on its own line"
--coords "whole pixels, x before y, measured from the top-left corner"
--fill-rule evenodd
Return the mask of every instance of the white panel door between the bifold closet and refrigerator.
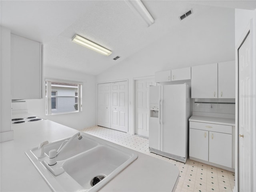
M 148 137 L 149 86 L 154 79 L 135 80 L 135 134 Z

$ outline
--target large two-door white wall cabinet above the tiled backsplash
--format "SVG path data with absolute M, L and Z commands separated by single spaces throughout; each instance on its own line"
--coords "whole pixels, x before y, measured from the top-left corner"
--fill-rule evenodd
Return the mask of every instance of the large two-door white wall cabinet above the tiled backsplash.
M 235 62 L 193 66 L 192 98 L 235 98 Z

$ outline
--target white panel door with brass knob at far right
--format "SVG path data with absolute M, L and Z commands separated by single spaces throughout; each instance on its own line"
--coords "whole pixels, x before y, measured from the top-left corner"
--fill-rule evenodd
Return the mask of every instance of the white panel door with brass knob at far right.
M 252 60 L 251 60 L 251 34 L 245 37 L 238 48 L 238 141 L 239 149 L 239 190 L 252 190 L 252 154 L 251 130 L 254 116 L 252 113 Z M 255 181 L 254 181 L 255 182 Z

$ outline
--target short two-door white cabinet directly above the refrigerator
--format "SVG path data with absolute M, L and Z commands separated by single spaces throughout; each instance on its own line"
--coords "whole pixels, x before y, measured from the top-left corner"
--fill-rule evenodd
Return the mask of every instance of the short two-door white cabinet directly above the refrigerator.
M 191 79 L 191 67 L 174 69 L 169 71 L 160 71 L 155 73 L 155 81 L 170 82 L 170 81 L 181 81 Z

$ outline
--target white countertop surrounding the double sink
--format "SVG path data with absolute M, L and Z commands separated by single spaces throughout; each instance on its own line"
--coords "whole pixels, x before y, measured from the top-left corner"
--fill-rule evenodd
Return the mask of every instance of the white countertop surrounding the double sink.
M 14 140 L 0 143 L 0 191 L 51 191 L 25 151 L 45 140 L 53 142 L 70 137 L 78 130 L 50 120 L 14 124 L 12 129 Z M 99 191 L 173 190 L 179 178 L 179 170 L 176 166 L 137 151 L 136 154 L 138 158 Z

